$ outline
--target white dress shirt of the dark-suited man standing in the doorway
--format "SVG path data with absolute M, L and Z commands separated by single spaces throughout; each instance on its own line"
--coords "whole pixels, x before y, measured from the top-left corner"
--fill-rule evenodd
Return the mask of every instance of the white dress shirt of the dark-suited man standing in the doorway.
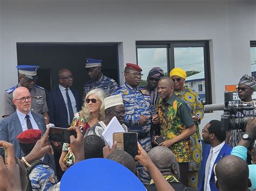
M 59 89 L 60 89 L 60 92 L 62 93 L 64 102 L 66 104 L 66 110 L 68 111 L 68 124 L 70 125 L 71 122 L 72 122 L 72 119 L 70 119 L 70 117 L 69 117 L 69 106 L 68 106 L 68 98 L 66 97 L 66 88 L 60 86 L 60 84 L 59 84 Z M 68 94 L 69 94 L 69 97 L 70 97 L 73 113 L 76 114 L 78 112 L 77 111 L 77 103 L 76 103 L 75 96 L 73 95 L 70 88 L 68 88 Z

